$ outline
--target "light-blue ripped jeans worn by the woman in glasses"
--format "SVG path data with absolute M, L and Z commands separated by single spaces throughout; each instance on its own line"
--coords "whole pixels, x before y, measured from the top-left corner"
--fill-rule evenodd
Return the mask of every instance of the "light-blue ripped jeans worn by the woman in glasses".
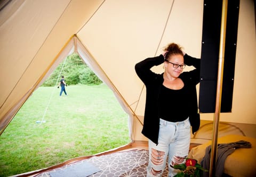
M 149 162 L 147 177 L 162 176 L 168 156 L 168 176 L 177 174 L 173 168 L 176 164 L 185 163 L 190 144 L 190 122 L 168 122 L 160 119 L 158 144 L 148 140 Z

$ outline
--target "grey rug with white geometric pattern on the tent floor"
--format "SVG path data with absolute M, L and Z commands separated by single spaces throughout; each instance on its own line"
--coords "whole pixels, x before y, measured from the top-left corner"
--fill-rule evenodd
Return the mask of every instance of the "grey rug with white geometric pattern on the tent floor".
M 148 165 L 148 150 L 131 150 L 124 152 L 115 152 L 113 154 L 93 156 L 89 159 L 84 159 L 83 162 L 89 162 L 90 164 L 98 167 L 101 171 L 90 175 L 90 177 L 96 176 L 146 176 L 146 167 Z M 50 172 L 44 172 L 38 174 L 37 177 L 51 177 L 50 173 L 61 171 L 66 169 L 67 166 L 77 165 L 78 163 L 69 164 L 61 168 L 55 168 Z M 167 176 L 167 165 L 163 173 L 163 177 Z

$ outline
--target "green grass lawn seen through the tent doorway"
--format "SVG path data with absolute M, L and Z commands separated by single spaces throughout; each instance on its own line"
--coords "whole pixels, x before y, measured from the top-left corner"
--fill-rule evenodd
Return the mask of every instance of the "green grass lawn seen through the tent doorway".
M 38 170 L 130 142 L 128 115 L 105 84 L 68 86 L 67 96 L 59 96 L 59 91 L 39 87 L 6 127 L 0 136 L 0 176 Z

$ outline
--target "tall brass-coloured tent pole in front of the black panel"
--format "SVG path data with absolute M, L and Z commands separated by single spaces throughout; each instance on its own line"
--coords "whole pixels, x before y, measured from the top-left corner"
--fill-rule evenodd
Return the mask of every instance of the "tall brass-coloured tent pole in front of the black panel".
M 223 67 L 224 67 L 224 56 L 225 56 L 227 9 L 228 9 L 228 0 L 223 0 L 222 14 L 221 14 L 218 80 L 217 80 L 215 113 L 214 113 L 214 119 L 213 119 L 213 138 L 212 138 L 210 170 L 209 170 L 210 177 L 215 176 L 216 162 L 217 162 L 218 128 L 219 128 L 219 116 L 220 116 L 220 108 L 221 108 L 220 105 L 221 105 L 222 79 L 223 79 Z

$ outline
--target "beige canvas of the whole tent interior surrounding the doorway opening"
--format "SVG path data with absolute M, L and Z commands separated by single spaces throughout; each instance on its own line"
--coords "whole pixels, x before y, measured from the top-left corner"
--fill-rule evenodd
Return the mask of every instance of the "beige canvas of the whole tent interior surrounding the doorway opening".
M 0 134 L 59 63 L 77 52 L 109 86 L 129 115 L 131 143 L 103 154 L 147 149 L 147 138 L 141 134 L 146 92 L 135 74 L 135 63 L 161 54 L 163 47 L 171 42 L 180 44 L 189 55 L 201 58 L 206 0 L 5 0 L 0 3 Z M 239 1 L 236 47 L 232 110 L 220 113 L 218 137 L 235 134 L 254 140 L 253 0 Z M 185 71 L 190 69 L 193 68 L 186 67 Z M 162 73 L 163 67 L 153 70 Z M 214 113 L 201 113 L 201 127 L 191 134 L 191 143 L 212 140 L 213 117 Z M 255 148 L 256 144 L 252 144 Z M 81 159 L 22 175 L 38 175 Z

